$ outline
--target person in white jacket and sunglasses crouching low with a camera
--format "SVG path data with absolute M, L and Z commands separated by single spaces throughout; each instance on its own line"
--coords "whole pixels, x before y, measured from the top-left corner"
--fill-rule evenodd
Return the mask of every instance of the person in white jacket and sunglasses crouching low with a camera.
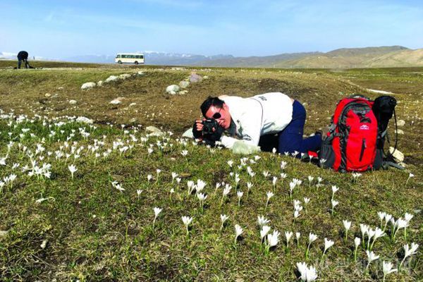
M 281 154 L 316 152 L 321 146 L 320 132 L 302 138 L 305 108 L 281 92 L 248 98 L 209 97 L 200 109 L 204 118 L 195 121 L 192 133 L 208 145 L 216 141 L 227 148 L 259 145 L 265 151 L 276 148 Z

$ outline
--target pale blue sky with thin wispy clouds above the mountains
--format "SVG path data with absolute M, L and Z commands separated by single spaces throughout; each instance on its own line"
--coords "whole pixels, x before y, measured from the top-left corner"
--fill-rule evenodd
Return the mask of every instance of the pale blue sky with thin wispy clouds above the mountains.
M 0 0 L 0 51 L 267 56 L 423 48 L 423 1 Z

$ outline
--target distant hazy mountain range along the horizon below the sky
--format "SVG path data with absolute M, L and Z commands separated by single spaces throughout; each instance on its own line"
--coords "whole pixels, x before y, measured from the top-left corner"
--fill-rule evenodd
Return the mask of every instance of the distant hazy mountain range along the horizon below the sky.
M 304 52 L 274 56 L 235 57 L 232 55 L 203 56 L 140 51 L 146 65 L 216 66 L 249 68 L 372 68 L 423 66 L 423 49 L 402 46 L 343 48 L 329 52 Z M 13 57 L 13 58 L 11 58 Z M 115 55 L 82 55 L 63 61 L 82 63 L 114 63 Z M 16 54 L 1 52 L 0 59 L 16 59 Z M 37 57 L 36 57 L 37 59 Z

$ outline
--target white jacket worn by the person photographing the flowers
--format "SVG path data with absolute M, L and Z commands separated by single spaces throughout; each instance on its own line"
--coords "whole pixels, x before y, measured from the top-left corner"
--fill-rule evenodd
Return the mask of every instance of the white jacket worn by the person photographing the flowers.
M 229 107 L 229 113 L 236 125 L 236 135 L 251 145 L 258 145 L 261 135 L 278 133 L 290 123 L 293 116 L 293 102 L 281 92 L 259 94 L 249 98 L 221 96 Z M 238 141 L 222 136 L 221 143 L 232 148 Z

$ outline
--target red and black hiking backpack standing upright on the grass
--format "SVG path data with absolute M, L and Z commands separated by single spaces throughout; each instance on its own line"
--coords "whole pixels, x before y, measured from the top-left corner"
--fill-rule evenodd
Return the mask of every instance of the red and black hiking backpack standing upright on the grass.
M 381 135 L 372 106 L 373 102 L 365 97 L 338 102 L 329 133 L 322 141 L 320 166 L 343 172 L 380 168 L 383 148 L 382 152 L 376 150 Z

